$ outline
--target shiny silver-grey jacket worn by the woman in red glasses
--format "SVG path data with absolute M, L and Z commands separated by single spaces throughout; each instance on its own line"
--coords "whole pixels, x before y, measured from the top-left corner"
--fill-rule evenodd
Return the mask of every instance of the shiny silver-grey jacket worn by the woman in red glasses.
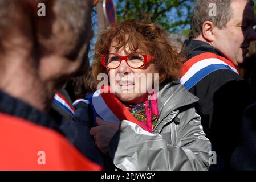
M 211 144 L 193 103 L 198 98 L 172 82 L 159 91 L 159 120 L 153 133 L 122 121 L 109 146 L 122 170 L 208 170 Z

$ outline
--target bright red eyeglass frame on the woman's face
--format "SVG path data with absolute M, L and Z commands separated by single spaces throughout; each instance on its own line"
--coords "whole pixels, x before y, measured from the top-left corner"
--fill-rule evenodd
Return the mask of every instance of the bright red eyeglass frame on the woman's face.
M 143 58 L 144 58 L 144 63 L 143 63 L 143 65 L 141 65 L 141 66 L 138 67 L 138 68 L 135 68 L 135 67 L 131 67 L 131 66 L 127 63 L 127 59 L 128 59 L 128 57 L 129 57 L 129 55 L 131 55 L 132 53 L 137 53 L 137 54 L 140 54 L 141 56 L 143 56 Z M 107 55 L 116 55 L 116 56 L 119 57 L 119 59 L 120 59 L 120 64 L 121 64 L 121 61 L 125 60 L 126 64 L 127 64 L 129 67 L 133 68 L 133 69 L 140 69 L 141 67 L 144 67 L 147 63 L 149 63 L 151 60 L 155 59 L 155 56 L 151 56 L 151 55 L 142 55 L 142 54 L 139 53 L 139 52 L 132 52 L 132 53 L 129 53 L 128 56 L 120 56 L 120 55 L 117 55 L 116 53 L 109 53 L 109 54 L 107 54 Z M 107 56 L 107 55 L 105 55 L 105 56 Z M 101 64 L 102 64 L 105 68 L 108 68 L 108 69 L 116 69 L 116 68 L 118 68 L 118 67 L 120 66 L 120 64 L 119 64 L 116 68 L 109 68 L 107 65 L 105 65 L 105 61 L 104 61 L 105 56 L 101 56 Z

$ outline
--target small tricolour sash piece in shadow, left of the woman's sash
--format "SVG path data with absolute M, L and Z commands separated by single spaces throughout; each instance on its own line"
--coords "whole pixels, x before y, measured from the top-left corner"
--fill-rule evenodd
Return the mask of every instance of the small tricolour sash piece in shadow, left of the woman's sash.
M 69 114 L 74 115 L 75 108 L 59 92 L 56 92 L 54 95 L 54 103 L 62 107 L 62 109 L 66 110 Z

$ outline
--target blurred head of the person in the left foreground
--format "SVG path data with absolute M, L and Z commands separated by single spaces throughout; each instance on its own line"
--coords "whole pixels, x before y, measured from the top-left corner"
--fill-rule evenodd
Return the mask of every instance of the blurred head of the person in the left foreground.
M 38 3 L 46 6 L 45 17 L 38 16 Z M 88 65 L 91 1 L 1 0 L 0 30 L 1 72 L 30 73 L 43 85 L 42 92 L 52 96 Z

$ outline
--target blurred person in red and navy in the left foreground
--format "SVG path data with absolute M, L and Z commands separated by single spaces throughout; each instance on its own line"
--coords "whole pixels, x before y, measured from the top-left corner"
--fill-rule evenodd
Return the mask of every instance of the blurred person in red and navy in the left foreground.
M 101 169 L 49 112 L 56 90 L 88 65 L 91 36 L 91 1 L 0 1 L 1 170 Z

